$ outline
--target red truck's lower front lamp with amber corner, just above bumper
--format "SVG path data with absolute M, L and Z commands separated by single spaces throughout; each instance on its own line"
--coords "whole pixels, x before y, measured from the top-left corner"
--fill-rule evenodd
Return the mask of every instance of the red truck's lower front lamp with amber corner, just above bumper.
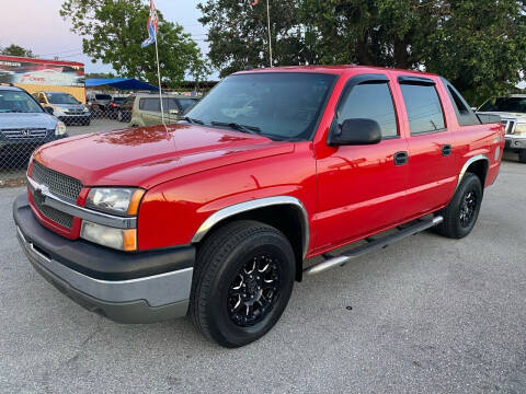
M 137 229 L 114 229 L 83 220 L 80 236 L 87 241 L 119 251 L 133 252 L 137 250 Z

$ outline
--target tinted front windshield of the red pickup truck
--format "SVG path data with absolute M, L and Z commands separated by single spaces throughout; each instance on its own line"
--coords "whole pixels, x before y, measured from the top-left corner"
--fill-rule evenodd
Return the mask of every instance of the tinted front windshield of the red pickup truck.
M 262 135 L 276 140 L 308 140 L 334 79 L 333 74 L 307 72 L 231 76 L 186 115 L 205 125 L 260 129 Z

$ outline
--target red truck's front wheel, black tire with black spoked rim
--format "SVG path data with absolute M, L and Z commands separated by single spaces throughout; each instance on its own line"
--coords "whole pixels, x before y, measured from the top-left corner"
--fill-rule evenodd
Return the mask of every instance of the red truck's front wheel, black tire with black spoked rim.
M 228 223 L 197 252 L 188 316 L 209 340 L 228 348 L 248 345 L 279 320 L 295 269 L 282 232 L 250 220 Z

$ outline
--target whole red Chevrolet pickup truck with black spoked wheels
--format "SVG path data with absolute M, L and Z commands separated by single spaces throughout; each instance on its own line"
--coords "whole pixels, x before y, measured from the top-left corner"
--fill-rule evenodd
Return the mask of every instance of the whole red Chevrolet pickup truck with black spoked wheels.
M 503 148 L 499 118 L 434 74 L 250 70 L 178 124 L 37 149 L 13 215 L 33 266 L 89 310 L 187 314 L 238 347 L 273 327 L 305 275 L 425 229 L 467 235 Z

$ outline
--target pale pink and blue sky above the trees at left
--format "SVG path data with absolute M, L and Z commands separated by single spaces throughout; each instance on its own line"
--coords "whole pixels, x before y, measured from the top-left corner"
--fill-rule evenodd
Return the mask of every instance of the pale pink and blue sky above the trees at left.
M 182 25 L 203 54 L 207 54 L 208 47 L 205 43 L 207 31 L 197 22 L 201 16 L 196 8 L 199 1 L 156 0 L 155 3 L 167 20 Z M 111 66 L 102 62 L 92 63 L 91 59 L 82 54 L 81 37 L 72 33 L 69 21 L 64 21 L 58 14 L 61 3 L 62 0 L 15 0 L 2 4 L 2 14 L 9 18 L 2 18 L 0 24 L 0 47 L 16 44 L 31 49 L 41 58 L 53 59 L 58 56 L 64 60 L 83 62 L 87 73 L 111 72 Z

